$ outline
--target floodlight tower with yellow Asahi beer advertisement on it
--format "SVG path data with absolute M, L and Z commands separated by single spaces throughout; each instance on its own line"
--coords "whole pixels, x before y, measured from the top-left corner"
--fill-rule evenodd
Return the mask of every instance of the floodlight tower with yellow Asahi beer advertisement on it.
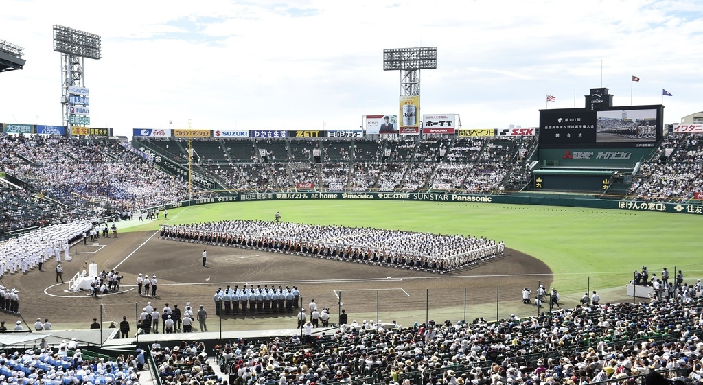
M 383 70 L 400 71 L 399 133 L 420 133 L 420 70 L 434 68 L 437 68 L 437 47 L 383 50 Z

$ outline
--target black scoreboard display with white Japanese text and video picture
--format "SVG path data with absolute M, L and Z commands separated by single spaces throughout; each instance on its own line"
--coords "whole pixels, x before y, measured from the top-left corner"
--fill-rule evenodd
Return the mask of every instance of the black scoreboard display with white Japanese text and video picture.
M 540 110 L 541 148 L 647 148 L 662 139 L 664 106 Z

